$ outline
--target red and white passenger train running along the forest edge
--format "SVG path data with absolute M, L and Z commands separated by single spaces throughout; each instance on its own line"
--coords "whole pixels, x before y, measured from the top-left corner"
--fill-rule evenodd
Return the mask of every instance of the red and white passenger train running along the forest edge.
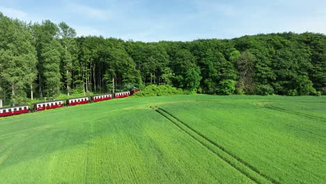
M 125 98 L 130 95 L 133 95 L 138 91 L 140 91 L 140 89 L 114 93 L 114 98 Z M 53 100 L 47 102 L 38 102 L 38 103 L 34 103 L 33 109 L 30 110 L 29 110 L 29 105 L 3 107 L 0 108 L 0 117 L 11 116 L 16 114 L 24 114 L 28 112 L 38 112 L 46 109 L 56 109 L 63 106 L 81 105 L 81 104 L 86 104 L 88 102 L 100 102 L 103 100 L 111 100 L 111 99 L 112 99 L 111 94 L 102 94 L 102 95 L 92 95 L 91 97 L 86 96 L 86 97 L 79 97 L 79 98 L 70 98 L 68 100 Z

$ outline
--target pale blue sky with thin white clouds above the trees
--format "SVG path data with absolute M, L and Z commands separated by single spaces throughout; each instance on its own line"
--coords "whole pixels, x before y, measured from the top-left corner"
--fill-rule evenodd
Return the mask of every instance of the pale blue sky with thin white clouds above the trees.
M 77 36 L 143 42 L 326 34 L 326 0 L 0 0 L 0 12 L 25 22 L 65 22 Z

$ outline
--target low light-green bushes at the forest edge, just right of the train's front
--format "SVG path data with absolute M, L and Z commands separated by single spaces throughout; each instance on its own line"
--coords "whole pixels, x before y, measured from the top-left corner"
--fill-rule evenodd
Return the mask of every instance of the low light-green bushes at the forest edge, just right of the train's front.
M 195 91 L 184 91 L 177 89 L 170 85 L 149 85 L 145 89 L 135 93 L 136 96 L 162 96 L 162 95 L 189 95 L 194 94 Z

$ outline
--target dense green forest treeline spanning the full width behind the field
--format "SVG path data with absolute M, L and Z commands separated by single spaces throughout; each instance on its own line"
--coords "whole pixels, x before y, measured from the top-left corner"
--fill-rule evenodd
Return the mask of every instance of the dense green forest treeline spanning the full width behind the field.
M 6 103 L 148 84 L 209 94 L 325 94 L 326 36 L 142 43 L 77 38 L 64 22 L 26 24 L 0 13 L 0 99 Z

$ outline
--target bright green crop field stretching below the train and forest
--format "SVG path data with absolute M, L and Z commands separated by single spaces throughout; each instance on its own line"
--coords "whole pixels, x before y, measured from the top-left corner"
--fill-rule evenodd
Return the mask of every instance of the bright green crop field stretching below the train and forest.
M 326 183 L 326 97 L 125 98 L 0 118 L 0 183 Z

